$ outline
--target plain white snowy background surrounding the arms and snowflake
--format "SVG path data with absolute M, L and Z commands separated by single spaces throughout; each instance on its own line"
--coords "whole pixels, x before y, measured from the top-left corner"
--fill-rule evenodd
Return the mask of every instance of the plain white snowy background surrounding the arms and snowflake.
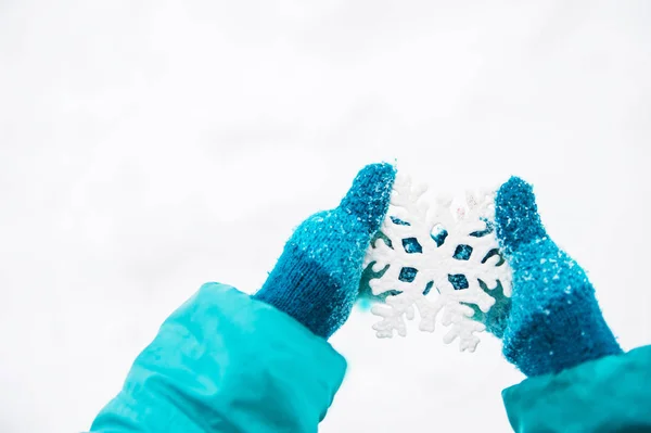
M 0 431 L 87 429 L 202 282 L 256 290 L 292 227 L 394 157 L 439 190 L 534 182 L 623 346 L 651 343 L 650 20 L 644 0 L 0 2 Z M 320 431 L 509 430 L 522 377 L 495 339 L 460 354 L 373 321 L 332 339 L 349 371 Z

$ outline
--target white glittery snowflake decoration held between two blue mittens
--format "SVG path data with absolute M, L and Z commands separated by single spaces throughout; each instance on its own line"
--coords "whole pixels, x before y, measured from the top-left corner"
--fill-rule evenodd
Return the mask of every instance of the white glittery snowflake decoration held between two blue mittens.
M 390 211 L 380 229 L 391 245 L 380 238 L 367 253 L 365 267 L 374 262 L 374 272 L 388 265 L 384 275 L 370 281 L 373 295 L 400 292 L 387 296 L 385 305 L 373 306 L 371 311 L 382 317 L 373 329 L 379 338 L 392 338 L 394 330 L 405 336 L 405 319 L 412 320 L 418 309 L 420 330 L 433 332 L 437 316 L 443 311 L 442 323 L 451 326 L 444 342 L 451 343 L 459 338 L 461 351 L 474 352 L 480 342 L 475 332 L 484 331 L 485 326 L 472 320 L 473 309 L 463 304 L 474 304 L 484 313 L 495 304 L 495 298 L 482 289 L 478 280 L 489 290 L 499 281 L 505 296 L 511 295 L 511 270 L 500 255 L 495 254 L 498 249 L 495 232 L 476 234 L 486 233 L 487 221 L 494 219 L 494 194 L 467 193 L 465 205 L 452 211 L 451 198 L 441 196 L 429 205 L 423 199 L 425 191 L 426 186 L 412 186 L 409 177 L 398 174 Z M 447 237 L 441 243 L 443 230 Z M 457 254 L 459 245 L 465 254 Z M 472 249 L 470 256 L 469 247 Z M 497 266 L 500 260 L 501 266 Z M 410 278 L 401 277 L 404 269 L 409 271 Z M 465 277 L 468 288 L 455 290 L 448 276 L 460 275 Z M 436 290 L 427 291 L 427 288 Z

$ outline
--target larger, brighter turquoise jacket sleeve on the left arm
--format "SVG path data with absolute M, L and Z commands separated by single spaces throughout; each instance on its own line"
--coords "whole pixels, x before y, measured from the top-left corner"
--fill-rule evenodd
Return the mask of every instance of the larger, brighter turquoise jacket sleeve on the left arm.
M 163 323 L 91 432 L 317 432 L 345 370 L 290 316 L 207 283 Z

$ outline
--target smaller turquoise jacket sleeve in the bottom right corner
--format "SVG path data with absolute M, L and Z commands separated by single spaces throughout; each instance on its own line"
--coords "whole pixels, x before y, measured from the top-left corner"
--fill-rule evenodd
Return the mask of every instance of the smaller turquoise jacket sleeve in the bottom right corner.
M 651 346 L 526 379 L 502 397 L 519 433 L 651 432 Z

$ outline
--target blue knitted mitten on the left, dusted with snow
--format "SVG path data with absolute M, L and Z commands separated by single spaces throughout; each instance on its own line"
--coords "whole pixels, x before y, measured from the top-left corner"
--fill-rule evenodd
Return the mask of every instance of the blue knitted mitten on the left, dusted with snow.
M 366 166 L 339 207 L 307 218 L 295 230 L 255 298 L 328 339 L 348 318 L 362 262 L 388 209 L 395 168 Z

